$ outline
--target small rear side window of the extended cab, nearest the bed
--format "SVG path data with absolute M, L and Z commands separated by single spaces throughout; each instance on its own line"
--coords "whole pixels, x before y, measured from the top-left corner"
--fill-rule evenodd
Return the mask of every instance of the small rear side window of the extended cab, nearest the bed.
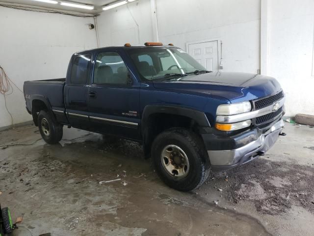
M 75 57 L 71 68 L 71 84 L 86 84 L 91 58 L 92 56 L 90 54 L 78 55 Z

